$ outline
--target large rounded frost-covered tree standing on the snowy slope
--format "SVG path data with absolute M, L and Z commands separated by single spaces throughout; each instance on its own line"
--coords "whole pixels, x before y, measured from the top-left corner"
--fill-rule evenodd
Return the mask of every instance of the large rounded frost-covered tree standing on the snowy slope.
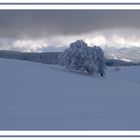
M 58 57 L 58 64 L 70 70 L 86 71 L 89 74 L 105 74 L 104 53 L 100 47 L 88 47 L 82 41 L 77 40 L 70 44 Z

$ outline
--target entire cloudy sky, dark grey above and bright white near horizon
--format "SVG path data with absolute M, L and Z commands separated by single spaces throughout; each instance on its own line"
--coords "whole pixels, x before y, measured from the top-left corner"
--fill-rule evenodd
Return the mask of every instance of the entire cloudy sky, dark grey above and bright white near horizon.
M 0 49 L 55 51 L 77 39 L 140 46 L 140 10 L 0 10 Z

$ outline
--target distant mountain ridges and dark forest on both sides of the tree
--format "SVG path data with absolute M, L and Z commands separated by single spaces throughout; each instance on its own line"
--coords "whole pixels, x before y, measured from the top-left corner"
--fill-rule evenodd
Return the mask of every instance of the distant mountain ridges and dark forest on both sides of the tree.
M 107 66 L 115 65 L 139 65 L 139 48 L 104 48 Z M 44 64 L 57 64 L 57 58 L 61 52 L 18 52 L 0 50 L 0 58 L 27 60 Z

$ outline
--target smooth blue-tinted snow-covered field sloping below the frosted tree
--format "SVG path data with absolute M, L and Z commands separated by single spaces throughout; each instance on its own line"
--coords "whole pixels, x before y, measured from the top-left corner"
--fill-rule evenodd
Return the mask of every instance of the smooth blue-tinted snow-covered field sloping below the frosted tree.
M 140 129 L 140 67 L 105 78 L 0 59 L 0 129 Z

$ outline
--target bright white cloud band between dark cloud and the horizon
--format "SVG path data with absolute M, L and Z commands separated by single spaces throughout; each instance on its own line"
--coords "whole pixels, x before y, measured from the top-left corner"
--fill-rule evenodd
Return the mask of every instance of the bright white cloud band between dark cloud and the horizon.
M 109 29 L 100 30 L 81 35 L 57 35 L 52 37 L 44 37 L 41 39 L 6 39 L 0 38 L 0 49 L 16 50 L 24 52 L 39 52 L 39 51 L 58 51 L 64 47 L 68 47 L 71 42 L 78 39 L 83 39 L 88 45 L 99 45 L 108 47 L 140 47 L 140 31 L 130 29 Z

